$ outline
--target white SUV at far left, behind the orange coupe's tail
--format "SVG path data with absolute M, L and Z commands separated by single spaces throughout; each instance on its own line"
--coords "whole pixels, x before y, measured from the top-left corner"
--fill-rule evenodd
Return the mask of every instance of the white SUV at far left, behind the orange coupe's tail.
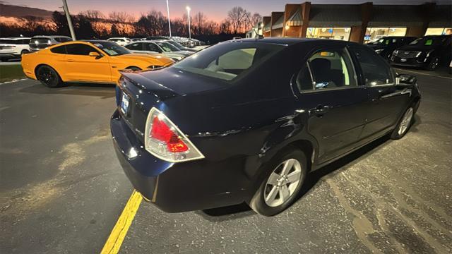
M 0 38 L 0 59 L 18 59 L 20 55 L 30 52 L 30 38 Z

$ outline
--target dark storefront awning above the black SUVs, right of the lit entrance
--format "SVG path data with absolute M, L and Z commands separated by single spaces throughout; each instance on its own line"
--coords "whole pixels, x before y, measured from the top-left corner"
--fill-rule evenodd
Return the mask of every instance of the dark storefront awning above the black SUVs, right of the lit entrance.
M 393 28 L 422 26 L 421 8 L 408 5 L 374 5 L 373 15 L 367 27 L 369 28 Z

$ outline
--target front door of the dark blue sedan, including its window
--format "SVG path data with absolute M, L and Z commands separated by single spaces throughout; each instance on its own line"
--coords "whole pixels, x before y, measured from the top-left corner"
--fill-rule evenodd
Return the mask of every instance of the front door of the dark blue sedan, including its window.
M 350 49 L 361 70 L 362 83 L 369 91 L 366 124 L 360 139 L 374 138 L 396 124 L 400 113 L 408 105 L 410 90 L 396 85 L 391 67 L 374 52 L 355 44 Z

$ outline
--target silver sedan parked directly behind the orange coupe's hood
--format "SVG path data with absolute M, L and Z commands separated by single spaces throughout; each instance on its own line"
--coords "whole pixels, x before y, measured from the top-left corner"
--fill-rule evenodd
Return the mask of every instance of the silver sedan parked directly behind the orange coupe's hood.
M 141 41 L 141 42 L 132 42 L 127 44 L 127 49 L 134 53 L 141 54 L 155 54 L 160 53 L 163 54 L 174 61 L 180 61 L 186 56 L 193 54 L 194 52 L 180 50 L 174 45 L 169 44 L 168 42 L 163 41 Z

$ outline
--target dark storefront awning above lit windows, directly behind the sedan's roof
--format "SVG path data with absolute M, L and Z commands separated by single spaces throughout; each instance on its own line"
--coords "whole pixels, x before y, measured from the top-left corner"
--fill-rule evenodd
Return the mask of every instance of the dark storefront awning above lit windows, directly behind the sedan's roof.
M 351 4 L 315 4 L 309 11 L 309 26 L 316 28 L 350 28 L 361 25 L 361 9 Z

